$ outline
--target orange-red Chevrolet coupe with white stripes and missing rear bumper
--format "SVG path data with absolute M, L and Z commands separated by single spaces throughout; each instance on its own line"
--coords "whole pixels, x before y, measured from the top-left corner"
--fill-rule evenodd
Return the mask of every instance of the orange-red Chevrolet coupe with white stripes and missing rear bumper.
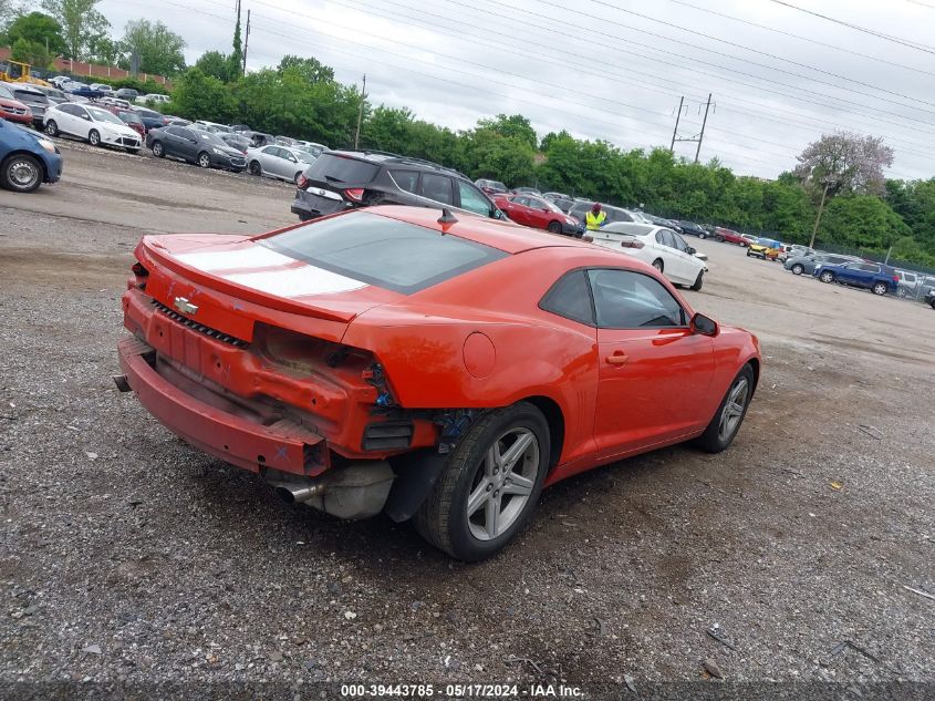
M 505 221 L 383 206 L 135 255 L 120 389 L 287 501 L 413 518 L 466 560 L 560 480 L 723 451 L 760 373 L 651 266 Z

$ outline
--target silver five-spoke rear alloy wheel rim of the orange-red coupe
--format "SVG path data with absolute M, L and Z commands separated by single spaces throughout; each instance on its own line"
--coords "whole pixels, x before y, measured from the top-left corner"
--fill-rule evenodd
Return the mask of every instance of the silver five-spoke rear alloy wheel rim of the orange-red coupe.
M 529 502 L 538 470 L 539 440 L 531 430 L 510 429 L 494 441 L 468 495 L 468 528 L 475 538 L 492 540 L 513 525 Z

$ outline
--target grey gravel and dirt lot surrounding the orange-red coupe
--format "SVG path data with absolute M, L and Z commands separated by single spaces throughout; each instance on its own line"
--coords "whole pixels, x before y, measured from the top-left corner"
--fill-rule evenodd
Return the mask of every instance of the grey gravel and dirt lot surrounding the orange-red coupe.
M 138 237 L 290 224 L 292 188 L 62 148 L 62 183 L 0 192 L 8 698 L 82 680 L 281 684 L 266 698 L 320 681 L 610 682 L 625 695 L 627 680 L 721 683 L 705 660 L 728 682 L 932 692 L 935 600 L 906 588 L 935 592 L 927 307 L 699 241 L 711 271 L 686 296 L 758 333 L 766 355 L 734 446 L 562 483 L 511 547 L 467 566 L 406 524 L 282 504 L 113 386 Z

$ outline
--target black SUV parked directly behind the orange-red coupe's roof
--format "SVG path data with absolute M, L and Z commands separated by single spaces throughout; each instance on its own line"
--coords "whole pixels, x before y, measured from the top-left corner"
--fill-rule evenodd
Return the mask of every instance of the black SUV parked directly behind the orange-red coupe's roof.
M 297 183 L 302 221 L 373 205 L 451 207 L 492 219 L 506 215 L 467 177 L 429 161 L 376 151 L 329 151 Z

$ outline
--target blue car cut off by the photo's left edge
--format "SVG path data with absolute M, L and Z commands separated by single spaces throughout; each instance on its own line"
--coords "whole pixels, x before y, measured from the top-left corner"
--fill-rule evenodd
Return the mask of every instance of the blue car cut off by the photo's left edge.
M 39 132 L 0 120 L 0 185 L 31 193 L 62 176 L 62 154 Z

